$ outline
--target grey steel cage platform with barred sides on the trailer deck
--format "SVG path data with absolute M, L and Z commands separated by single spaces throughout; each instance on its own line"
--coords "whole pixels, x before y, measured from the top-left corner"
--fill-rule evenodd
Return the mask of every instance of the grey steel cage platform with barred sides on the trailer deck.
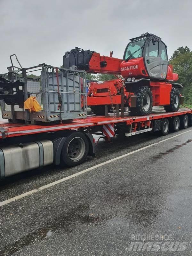
M 38 69 L 36 69 L 38 68 Z M 36 70 L 34 70 L 36 69 Z M 1 100 L 2 118 L 26 121 L 62 121 L 87 117 L 87 94 L 86 94 L 86 72 L 71 69 L 57 68 L 50 65 L 40 64 L 31 68 L 19 68 L 14 70 L 13 66 L 8 68 L 9 80 L 23 80 L 24 99 L 36 96 L 41 104 L 42 111 L 29 112 L 18 106 L 6 105 Z M 31 86 L 27 73 L 41 71 L 38 86 Z M 12 79 L 10 79 L 10 77 Z M 30 82 L 30 83 L 29 83 Z M 36 81 L 34 81 L 36 82 Z M 30 86 L 29 86 L 30 85 Z M 59 108 L 58 108 L 59 106 Z

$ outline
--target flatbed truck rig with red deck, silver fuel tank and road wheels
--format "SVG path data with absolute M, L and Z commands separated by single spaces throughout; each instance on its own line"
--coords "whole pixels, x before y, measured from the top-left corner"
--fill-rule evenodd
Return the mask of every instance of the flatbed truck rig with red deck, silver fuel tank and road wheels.
M 0 122 L 0 178 L 49 164 L 75 166 L 94 156 L 93 134 L 107 140 L 143 132 L 177 132 L 192 126 L 192 109 L 167 113 L 157 108 L 148 116 L 87 116 L 64 124 Z

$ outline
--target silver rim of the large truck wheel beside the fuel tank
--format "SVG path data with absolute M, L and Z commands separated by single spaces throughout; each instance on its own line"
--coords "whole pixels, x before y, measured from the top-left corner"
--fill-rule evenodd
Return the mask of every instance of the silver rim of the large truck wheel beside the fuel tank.
M 67 148 L 68 157 L 72 161 L 79 161 L 85 152 L 85 142 L 82 138 L 76 137 L 73 138 Z

